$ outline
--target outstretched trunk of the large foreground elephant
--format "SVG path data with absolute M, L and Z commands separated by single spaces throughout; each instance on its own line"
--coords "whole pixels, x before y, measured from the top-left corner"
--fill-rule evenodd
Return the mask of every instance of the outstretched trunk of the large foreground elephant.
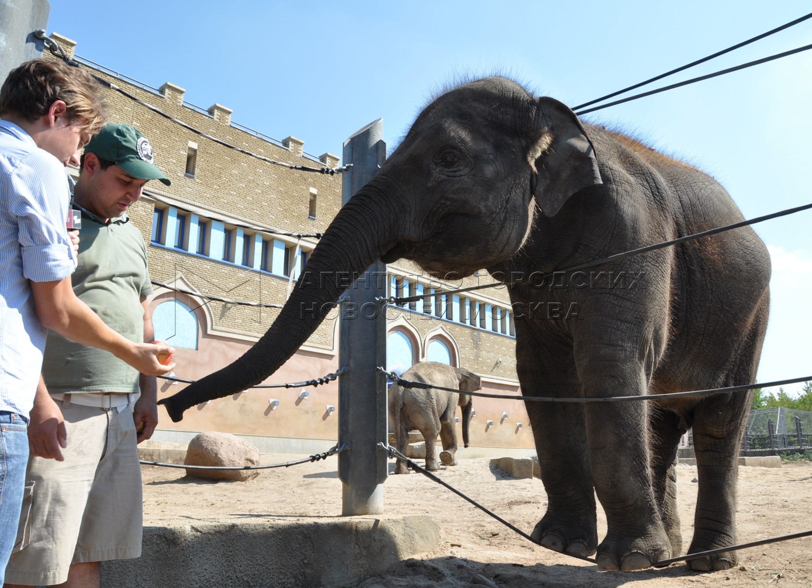
M 260 384 L 296 353 L 358 274 L 394 242 L 399 216 L 386 202 L 369 187 L 352 197 L 330 223 L 265 335 L 234 363 L 158 402 L 175 423 L 191 406 Z

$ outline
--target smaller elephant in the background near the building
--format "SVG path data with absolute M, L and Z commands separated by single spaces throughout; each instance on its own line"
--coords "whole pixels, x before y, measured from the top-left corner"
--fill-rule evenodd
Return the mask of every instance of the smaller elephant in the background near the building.
M 417 429 L 425 439 L 425 469 L 439 470 L 440 466 L 434 451 L 439 434 L 443 442 L 440 461 L 443 461 L 444 466 L 456 466 L 457 440 L 454 427 L 456 407 L 462 406 L 462 441 L 464 446 L 468 447 L 468 429 L 473 405 L 471 395 L 465 392 L 482 388 L 479 376 L 473 371 L 451 367 L 445 363 L 420 362 L 404 371 L 400 377 L 413 382 L 460 389 L 460 393 L 456 393 L 435 388 L 403 388 L 400 384 L 392 384 L 389 388 L 389 415 L 395 425 L 398 451 L 406 455 L 408 431 Z M 405 461 L 398 459 L 395 474 L 408 474 Z

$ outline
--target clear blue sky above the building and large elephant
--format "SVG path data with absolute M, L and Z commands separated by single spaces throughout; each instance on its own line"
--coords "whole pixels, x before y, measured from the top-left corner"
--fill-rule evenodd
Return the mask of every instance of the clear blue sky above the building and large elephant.
M 577 105 L 810 12 L 809 2 L 108 2 L 52 0 L 76 53 L 305 151 L 340 156 L 383 118 L 391 145 L 430 93 L 507 72 Z M 650 88 L 812 43 L 812 19 Z M 745 217 L 812 202 L 812 51 L 587 115 L 697 165 Z M 649 87 L 643 88 L 650 89 Z M 756 225 L 773 258 L 759 381 L 812 374 L 812 212 Z M 801 384 L 786 387 L 795 392 Z

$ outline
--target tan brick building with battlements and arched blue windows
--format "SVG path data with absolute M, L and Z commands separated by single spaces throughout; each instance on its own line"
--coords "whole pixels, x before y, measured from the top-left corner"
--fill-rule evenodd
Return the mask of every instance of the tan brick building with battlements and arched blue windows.
M 74 56 L 75 41 L 55 33 L 53 38 Z M 317 245 L 316 238 L 290 234 L 326 230 L 341 206 L 340 175 L 291 170 L 250 153 L 328 168 L 339 165 L 339 157 L 330 153 L 313 157 L 293 136 L 277 141 L 241 127 L 231 122 L 231 109 L 225 106 L 190 105 L 184 102 L 184 89 L 175 84 L 149 88 L 102 66 L 87 62 L 84 66 L 137 98 L 105 89 L 110 122 L 127 122 L 147 135 L 156 164 L 172 180 L 169 187 L 149 182 L 129 215 L 147 242 L 153 281 L 165 285 L 156 286 L 150 303 L 156 338 L 177 348 L 175 376 L 197 380 L 248 350 L 279 312 L 276 307 L 208 297 L 284 303 Z M 348 135 L 351 132 L 348 129 Z M 387 272 L 390 294 L 398 295 L 493 281 L 485 270 L 454 283 L 436 281 L 408 260 L 389 264 Z M 387 307 L 387 368 L 402 371 L 418 361 L 442 361 L 477 372 L 483 391 L 516 394 L 509 309 L 503 289 Z M 266 383 L 311 380 L 338 370 L 338 327 L 339 320 L 328 317 Z M 184 386 L 158 381 L 159 397 Z M 338 419 L 326 406 L 338 405 L 338 384 L 304 388 L 306 398 L 300 397 L 302 390 L 248 390 L 192 408 L 180 423 L 172 423 L 161 411 L 153 438 L 186 441 L 197 431 L 224 431 L 250 436 L 263 452 L 323 451 L 326 440 L 337 438 Z M 471 425 L 472 447 L 462 455 L 533 447 L 520 401 L 475 398 L 473 404 L 477 415 Z

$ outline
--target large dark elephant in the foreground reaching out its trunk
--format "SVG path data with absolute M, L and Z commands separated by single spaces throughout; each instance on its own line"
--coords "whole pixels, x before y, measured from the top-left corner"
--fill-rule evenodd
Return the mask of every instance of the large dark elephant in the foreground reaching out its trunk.
M 508 291 L 525 397 L 641 397 L 752 384 L 770 256 L 749 226 L 568 269 L 742 220 L 715 179 L 500 76 L 418 114 L 323 234 L 274 324 L 234 363 L 162 400 L 171 418 L 260 383 L 374 260 L 431 276 L 486 268 Z M 567 271 L 564 271 L 567 270 Z M 552 279 L 550 279 L 552 277 Z M 302 308 L 319 311 L 302 312 Z M 567 312 L 551 309 L 567 309 Z M 531 536 L 609 570 L 683 553 L 676 455 L 693 428 L 698 496 L 687 552 L 736 545 L 736 456 L 752 393 L 653 401 L 525 401 L 546 513 Z M 598 543 L 597 496 L 607 518 Z M 689 560 L 729 569 L 735 550 Z

